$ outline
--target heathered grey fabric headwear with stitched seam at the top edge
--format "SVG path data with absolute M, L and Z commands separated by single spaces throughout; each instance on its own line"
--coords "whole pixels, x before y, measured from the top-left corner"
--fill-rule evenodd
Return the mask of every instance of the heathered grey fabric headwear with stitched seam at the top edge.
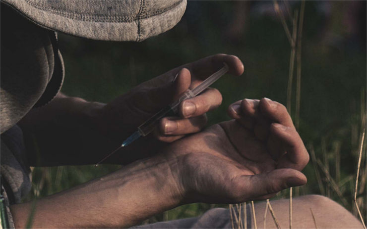
M 94 40 L 142 41 L 166 32 L 186 0 L 3 0 L 37 25 Z

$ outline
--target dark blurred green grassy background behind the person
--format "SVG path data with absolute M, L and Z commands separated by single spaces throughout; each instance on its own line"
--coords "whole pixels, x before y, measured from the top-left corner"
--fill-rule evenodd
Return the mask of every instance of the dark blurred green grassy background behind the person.
M 289 3 L 292 12 L 300 8 L 299 1 Z M 284 2 L 279 5 L 290 26 Z M 226 75 L 214 84 L 222 92 L 223 104 L 208 114 L 210 124 L 228 120 L 228 105 L 243 98 L 268 97 L 286 104 L 291 47 L 272 1 L 189 1 L 176 27 L 140 43 L 92 41 L 64 34 L 59 34 L 59 40 L 65 62 L 62 92 L 67 95 L 109 102 L 184 63 L 228 53 L 240 57 L 245 73 Z M 294 196 L 323 194 L 354 214 L 358 149 L 365 126 L 366 61 L 366 1 L 306 1 L 299 133 L 322 166 L 310 160 L 304 170 L 308 183 L 296 188 Z M 295 77 L 293 83 L 294 118 Z M 362 162 L 358 201 L 365 216 L 365 156 Z M 35 168 L 32 195 L 49 195 L 118 168 Z M 283 191 L 276 198 L 287 196 L 288 191 Z M 197 216 L 215 206 L 190 204 L 144 223 Z

